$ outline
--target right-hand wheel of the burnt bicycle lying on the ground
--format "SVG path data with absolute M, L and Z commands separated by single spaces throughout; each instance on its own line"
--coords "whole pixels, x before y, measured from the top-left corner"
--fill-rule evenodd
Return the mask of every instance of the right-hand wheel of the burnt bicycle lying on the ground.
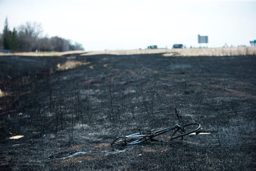
M 199 131 L 200 127 L 201 125 L 199 123 L 188 123 L 183 127 L 176 129 L 172 134 L 170 134 L 170 140 L 179 137 L 183 139 L 183 136 Z

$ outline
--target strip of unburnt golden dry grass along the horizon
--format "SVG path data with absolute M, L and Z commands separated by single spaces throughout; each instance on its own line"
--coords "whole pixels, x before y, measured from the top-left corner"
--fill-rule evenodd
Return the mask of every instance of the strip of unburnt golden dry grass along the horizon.
M 113 51 L 67 51 L 67 52 L 20 52 L 0 53 L 0 56 L 63 56 L 72 54 L 87 55 L 133 55 L 133 54 L 158 54 L 163 56 L 247 56 L 256 55 L 256 47 L 237 48 L 207 48 L 207 49 L 136 49 L 136 50 L 113 50 Z

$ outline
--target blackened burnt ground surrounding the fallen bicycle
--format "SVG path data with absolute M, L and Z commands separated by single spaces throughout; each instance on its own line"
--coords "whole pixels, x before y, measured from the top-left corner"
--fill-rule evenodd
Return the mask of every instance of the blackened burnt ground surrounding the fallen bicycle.
M 6 56 L 0 90 L 0 170 L 256 168 L 256 56 Z M 174 106 L 210 134 L 111 147 Z

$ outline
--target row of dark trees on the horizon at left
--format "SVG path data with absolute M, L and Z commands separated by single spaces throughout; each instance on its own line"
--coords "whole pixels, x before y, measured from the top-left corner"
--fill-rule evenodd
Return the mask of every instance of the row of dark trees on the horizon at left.
M 6 18 L 3 33 L 0 33 L 0 49 L 19 52 L 84 50 L 78 42 L 72 44 L 70 40 L 58 36 L 42 37 L 41 33 L 41 25 L 30 22 L 10 30 Z

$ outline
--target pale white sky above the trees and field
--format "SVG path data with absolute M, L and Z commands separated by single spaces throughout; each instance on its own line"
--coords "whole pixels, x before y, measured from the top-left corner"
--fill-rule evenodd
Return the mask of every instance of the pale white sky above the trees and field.
M 246 45 L 256 39 L 256 1 L 0 0 L 0 30 L 26 22 L 44 35 L 80 42 L 86 51 L 145 49 L 173 44 Z M 202 45 L 204 46 L 204 45 Z

